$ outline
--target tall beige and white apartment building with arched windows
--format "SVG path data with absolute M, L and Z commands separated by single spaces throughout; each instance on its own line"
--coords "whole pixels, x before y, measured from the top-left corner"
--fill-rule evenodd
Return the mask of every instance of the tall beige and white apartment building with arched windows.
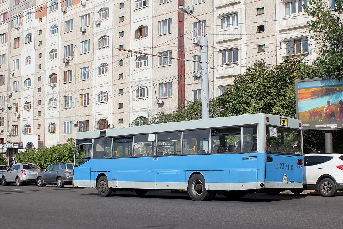
M 311 61 L 316 53 L 303 4 L 1 0 L 0 148 L 11 160 L 18 148 L 64 143 L 78 131 L 141 125 L 201 99 L 200 63 L 188 61 L 200 61 L 201 23 L 179 13 L 179 5 L 206 22 L 210 97 L 258 59 L 273 65 L 309 54 Z

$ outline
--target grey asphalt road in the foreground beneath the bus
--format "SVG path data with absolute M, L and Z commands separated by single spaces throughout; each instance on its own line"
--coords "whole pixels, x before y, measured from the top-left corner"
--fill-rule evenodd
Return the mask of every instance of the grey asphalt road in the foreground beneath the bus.
M 1 228 L 339 228 L 343 195 L 217 195 L 195 202 L 187 192 L 121 191 L 100 197 L 95 188 L 0 186 Z

